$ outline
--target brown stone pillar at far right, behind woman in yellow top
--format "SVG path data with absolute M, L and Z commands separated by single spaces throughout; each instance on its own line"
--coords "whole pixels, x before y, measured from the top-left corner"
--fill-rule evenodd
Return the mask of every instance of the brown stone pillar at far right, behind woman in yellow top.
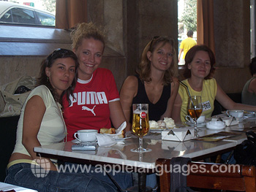
M 249 0 L 214 0 L 214 77 L 226 93 L 240 93 L 251 78 L 249 28 Z

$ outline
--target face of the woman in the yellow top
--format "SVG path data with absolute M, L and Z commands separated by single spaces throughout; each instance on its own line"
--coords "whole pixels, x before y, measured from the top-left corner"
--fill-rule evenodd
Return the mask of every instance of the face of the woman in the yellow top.
M 206 51 L 199 50 L 195 53 L 195 56 L 188 69 L 191 70 L 191 77 L 205 78 L 208 76 L 211 70 L 211 60 Z

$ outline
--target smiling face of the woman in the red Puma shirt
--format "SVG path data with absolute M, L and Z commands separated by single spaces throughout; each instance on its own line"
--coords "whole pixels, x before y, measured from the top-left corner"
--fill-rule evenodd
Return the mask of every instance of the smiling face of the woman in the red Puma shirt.
M 93 38 L 83 39 L 78 50 L 74 50 L 78 56 L 78 78 L 80 80 L 89 80 L 91 78 L 91 75 L 102 61 L 103 50 L 103 43 Z

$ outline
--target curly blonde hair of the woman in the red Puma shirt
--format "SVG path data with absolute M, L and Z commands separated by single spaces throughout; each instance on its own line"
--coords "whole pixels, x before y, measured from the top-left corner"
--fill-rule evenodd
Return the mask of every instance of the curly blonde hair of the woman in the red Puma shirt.
M 94 25 L 94 23 L 78 23 L 77 26 L 71 31 L 72 49 L 78 50 L 82 44 L 83 39 L 93 38 L 99 40 L 105 47 L 105 35 L 103 31 Z

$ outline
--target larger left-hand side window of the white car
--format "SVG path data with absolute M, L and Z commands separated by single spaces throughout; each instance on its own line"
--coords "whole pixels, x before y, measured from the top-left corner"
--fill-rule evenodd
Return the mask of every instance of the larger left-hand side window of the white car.
M 0 19 L 3 22 L 36 24 L 34 12 L 29 9 L 12 8 Z

